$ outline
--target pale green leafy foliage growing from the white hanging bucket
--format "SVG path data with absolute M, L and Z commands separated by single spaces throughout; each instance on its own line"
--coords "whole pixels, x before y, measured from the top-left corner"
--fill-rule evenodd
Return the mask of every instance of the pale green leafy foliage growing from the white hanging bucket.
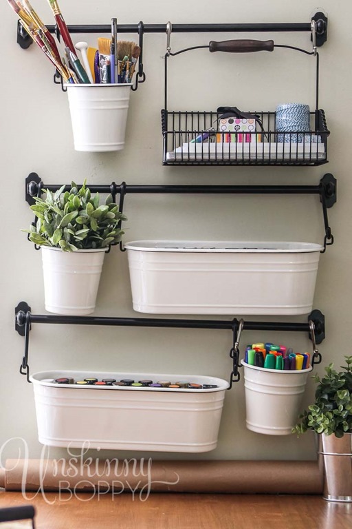
M 100 205 L 99 194 L 91 196 L 86 180 L 80 188 L 74 182 L 71 186 L 64 191 L 63 185 L 55 193 L 45 189 L 45 198 L 34 198 L 30 209 L 37 220 L 29 230 L 22 231 L 36 245 L 63 251 L 104 248 L 118 242 L 124 234 L 118 223 L 126 217 L 118 211 L 112 196 Z

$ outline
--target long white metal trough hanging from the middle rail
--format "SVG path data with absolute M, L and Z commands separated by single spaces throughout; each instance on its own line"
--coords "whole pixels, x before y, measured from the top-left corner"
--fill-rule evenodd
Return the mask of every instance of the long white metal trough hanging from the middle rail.
M 156 314 L 311 311 L 321 245 L 139 240 L 125 245 L 133 309 Z

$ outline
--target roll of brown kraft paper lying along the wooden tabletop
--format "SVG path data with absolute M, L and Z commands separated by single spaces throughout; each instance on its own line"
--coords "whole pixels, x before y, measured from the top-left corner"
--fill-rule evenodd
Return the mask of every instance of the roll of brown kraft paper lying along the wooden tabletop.
M 118 463 L 116 463 L 118 461 Z M 88 466 L 63 459 L 7 459 L 0 469 L 5 490 L 91 492 L 124 490 L 151 492 L 230 492 L 243 494 L 322 494 L 322 474 L 316 461 L 151 461 L 93 459 Z M 67 469 L 71 474 L 67 476 Z M 76 472 L 75 472 L 76 469 Z M 117 471 L 116 471 L 117 469 Z M 65 472 L 66 470 L 66 472 Z M 115 482 L 115 485 L 113 484 Z M 85 486 L 83 486 L 83 484 Z M 144 489 L 146 490 L 146 489 Z

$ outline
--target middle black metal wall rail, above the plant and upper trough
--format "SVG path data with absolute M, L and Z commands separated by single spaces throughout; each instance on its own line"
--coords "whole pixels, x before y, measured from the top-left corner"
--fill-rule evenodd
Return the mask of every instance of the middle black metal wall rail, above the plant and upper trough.
M 46 185 L 36 173 L 30 173 L 25 178 L 25 200 L 28 204 L 34 204 L 35 196 L 40 196 L 43 189 L 56 191 L 60 184 Z M 65 187 L 68 191 L 70 186 Z M 89 185 L 92 193 L 109 194 L 115 201 L 116 195 L 120 194 L 119 209 L 123 212 L 124 196 L 126 194 L 316 194 L 320 196 L 322 214 L 324 220 L 325 237 L 324 249 L 333 245 L 333 234 L 329 226 L 327 208 L 332 207 L 337 200 L 336 178 L 330 173 L 325 174 L 319 185 L 128 185 L 125 182 L 109 185 Z M 120 249 L 122 245 L 120 244 Z

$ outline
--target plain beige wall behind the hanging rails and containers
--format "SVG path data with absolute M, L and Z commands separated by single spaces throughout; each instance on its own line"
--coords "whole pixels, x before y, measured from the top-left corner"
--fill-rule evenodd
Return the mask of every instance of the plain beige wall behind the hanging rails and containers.
M 209 0 L 164 3 L 155 0 L 116 4 L 61 0 L 67 23 L 201 23 L 201 22 L 307 22 L 313 3 L 306 0 L 251 0 L 239 2 Z M 34 7 L 46 23 L 53 23 L 44 0 Z M 338 178 L 338 204 L 329 210 L 336 242 L 320 260 L 314 307 L 326 316 L 327 338 L 320 346 L 324 363 L 340 365 L 349 353 L 352 262 L 349 196 L 351 178 L 351 57 L 350 2 L 325 0 L 329 14 L 329 39 L 320 50 L 320 107 L 325 109 L 331 130 L 329 164 L 321 167 L 163 167 L 160 110 L 164 105 L 163 61 L 166 37 L 145 37 L 146 83 L 131 94 L 126 148 L 121 153 L 75 152 L 69 121 L 67 96 L 52 83 L 53 71 L 34 45 L 27 51 L 16 43 L 14 13 L 0 3 L 2 87 L 1 87 L 1 218 L 3 250 L 1 260 L 1 414 L 0 445 L 12 437 L 23 437 L 30 457 L 37 457 L 41 445 L 36 437 L 33 389 L 19 375 L 24 340 L 14 331 L 14 307 L 25 300 L 36 314 L 45 313 L 41 254 L 34 251 L 25 234 L 32 215 L 24 200 L 24 180 L 38 172 L 45 183 L 129 184 L 311 184 L 326 173 Z M 133 37 L 133 36 L 131 36 Z M 308 34 L 265 34 L 252 38 L 274 38 L 276 43 L 310 47 Z M 128 38 L 128 36 L 124 36 Z M 227 39 L 228 34 L 174 34 L 172 47 Z M 94 35 L 74 35 L 74 40 Z M 285 101 L 303 101 L 314 107 L 314 61 L 288 51 L 272 54 L 208 54 L 192 52 L 170 60 L 169 107 L 173 110 L 212 110 L 221 104 L 243 110 L 274 110 Z M 183 61 L 191 61 L 184 63 Z M 191 68 L 190 68 L 191 65 Z M 302 240 L 322 242 L 322 210 L 315 196 L 163 196 L 126 197 L 129 217 L 124 240 L 185 238 L 208 240 Z M 104 264 L 98 295 L 97 315 L 138 316 L 131 308 L 126 253 L 114 249 Z M 241 315 L 234 315 L 240 317 Z M 225 319 L 228 317 L 221 317 Z M 228 318 L 230 319 L 230 318 Z M 262 318 L 249 318 L 261 320 Z M 267 318 L 280 320 L 280 318 Z M 292 321 L 294 318 L 282 318 Z M 296 318 L 305 322 L 305 316 Z M 310 350 L 304 333 L 250 333 L 243 344 L 272 340 L 294 349 Z M 99 328 L 33 325 L 30 333 L 32 373 L 46 369 L 91 369 L 156 371 L 229 376 L 230 331 Z M 322 366 L 317 369 L 322 373 Z M 305 402 L 314 392 L 309 388 Z M 243 380 L 225 395 L 217 450 L 204 455 L 153 454 L 170 459 L 313 459 L 314 438 L 306 435 L 270 437 L 245 428 Z M 14 456 L 14 444 L 3 455 Z M 65 450 L 51 454 L 65 455 Z M 105 455 L 105 454 L 104 454 Z M 106 455 L 110 455 L 109 452 Z M 119 453 L 118 457 L 125 454 Z M 130 457 L 132 453 L 126 453 Z M 135 456 L 146 456 L 137 453 Z M 101 457 L 101 454 L 100 454 Z

